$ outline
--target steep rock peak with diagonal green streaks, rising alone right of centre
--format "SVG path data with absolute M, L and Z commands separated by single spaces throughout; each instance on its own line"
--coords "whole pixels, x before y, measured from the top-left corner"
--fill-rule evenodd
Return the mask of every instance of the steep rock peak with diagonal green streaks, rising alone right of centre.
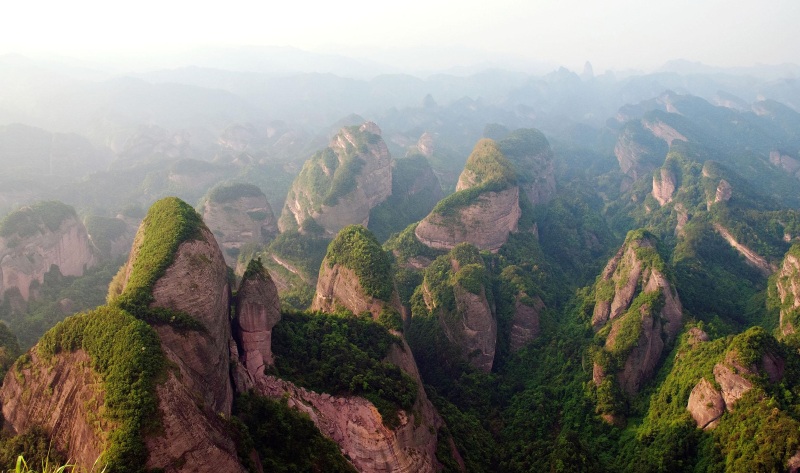
M 629 233 L 595 286 L 592 326 L 605 338 L 603 350 L 617 360 L 616 381 L 628 396 L 652 378 L 681 328 L 681 303 L 655 246 L 647 232 Z M 607 366 L 598 368 L 599 386 L 610 373 Z

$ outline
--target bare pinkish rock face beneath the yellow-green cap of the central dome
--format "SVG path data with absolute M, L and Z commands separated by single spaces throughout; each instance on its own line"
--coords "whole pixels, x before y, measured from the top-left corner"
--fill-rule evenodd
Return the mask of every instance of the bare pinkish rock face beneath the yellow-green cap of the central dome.
M 474 204 L 460 208 L 455 215 L 432 212 L 414 232 L 423 244 L 438 249 L 452 249 L 470 243 L 482 250 L 497 251 L 518 229 L 519 187 L 481 194 Z

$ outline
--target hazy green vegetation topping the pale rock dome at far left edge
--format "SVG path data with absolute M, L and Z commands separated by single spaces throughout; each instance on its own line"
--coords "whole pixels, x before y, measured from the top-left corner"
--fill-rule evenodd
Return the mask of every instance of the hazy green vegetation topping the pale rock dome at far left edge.
M 68 218 L 77 219 L 69 205 L 54 200 L 37 202 L 6 215 L 0 222 L 0 236 L 27 238 L 46 230 L 54 232 Z

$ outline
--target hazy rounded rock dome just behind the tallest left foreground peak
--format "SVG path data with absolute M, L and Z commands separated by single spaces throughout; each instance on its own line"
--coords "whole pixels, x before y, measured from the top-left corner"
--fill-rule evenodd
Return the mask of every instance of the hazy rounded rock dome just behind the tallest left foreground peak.
M 278 231 L 267 197 L 250 184 L 214 188 L 203 204 L 203 221 L 222 247 L 228 266 L 236 266 L 243 245 L 265 243 Z

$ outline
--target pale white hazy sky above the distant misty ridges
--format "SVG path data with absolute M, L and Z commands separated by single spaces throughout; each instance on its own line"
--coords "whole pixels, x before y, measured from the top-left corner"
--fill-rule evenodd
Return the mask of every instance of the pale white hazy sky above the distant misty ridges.
M 589 60 L 596 72 L 652 69 L 676 58 L 718 66 L 800 63 L 800 0 L 4 3 L 0 53 L 247 44 L 375 54 L 436 45 L 573 69 Z M 461 56 L 420 59 L 452 65 L 466 60 Z

